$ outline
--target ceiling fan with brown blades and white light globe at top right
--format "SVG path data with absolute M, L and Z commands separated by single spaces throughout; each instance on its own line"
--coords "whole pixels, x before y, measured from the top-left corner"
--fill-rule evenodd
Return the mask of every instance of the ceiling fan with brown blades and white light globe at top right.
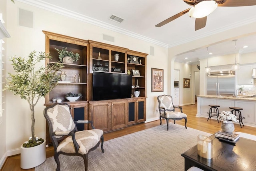
M 176 18 L 183 16 L 188 12 L 190 17 L 196 18 L 195 30 L 204 28 L 206 25 L 207 16 L 214 12 L 218 6 L 252 6 L 256 5 L 256 0 L 183 0 L 186 4 L 192 6 L 156 25 L 161 27 Z

